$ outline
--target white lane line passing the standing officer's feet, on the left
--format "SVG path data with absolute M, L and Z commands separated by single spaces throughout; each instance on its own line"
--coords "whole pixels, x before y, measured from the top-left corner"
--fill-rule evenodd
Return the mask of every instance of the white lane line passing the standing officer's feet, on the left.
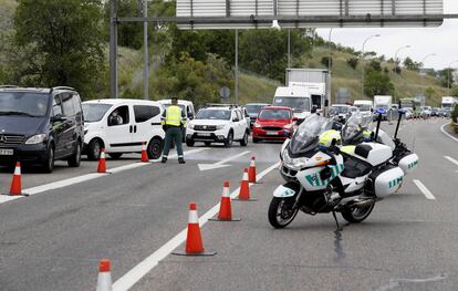
M 187 150 L 185 152 L 186 155 L 190 155 L 190 154 L 196 154 L 196 153 L 200 153 L 204 150 L 207 150 L 209 148 L 196 148 L 196 149 L 191 149 L 191 150 Z M 170 155 L 170 158 L 177 157 L 176 154 Z M 134 168 L 139 168 L 143 166 L 148 165 L 147 163 L 134 163 L 134 164 L 128 164 L 128 165 L 124 165 L 121 167 L 116 167 L 116 168 L 108 168 L 110 173 L 116 174 L 116 173 L 121 173 L 124 170 L 129 170 L 129 169 L 134 169 Z M 105 177 L 110 174 L 98 174 L 98 173 L 91 173 L 91 174 L 86 174 L 86 175 L 82 175 L 82 176 L 77 176 L 74 178 L 70 178 L 70 179 L 65 179 L 65 180 L 59 180 L 59 181 L 53 181 L 53 183 L 49 183 L 45 185 L 41 185 L 41 186 L 37 186 L 33 188 L 29 188 L 29 189 L 23 189 L 22 193 L 31 196 L 31 195 L 35 195 L 35 194 L 40 194 L 40 193 L 44 193 L 44 191 L 49 191 L 49 190 L 54 190 L 54 189 L 60 189 L 60 188 L 64 188 L 64 187 L 69 187 L 75 184 L 80 184 L 83 181 L 89 181 L 89 180 L 93 180 L 96 178 L 101 178 L 101 177 Z M 8 202 L 11 200 L 15 200 L 19 198 L 23 198 L 24 196 L 1 196 L 0 197 L 0 204 L 3 202 Z

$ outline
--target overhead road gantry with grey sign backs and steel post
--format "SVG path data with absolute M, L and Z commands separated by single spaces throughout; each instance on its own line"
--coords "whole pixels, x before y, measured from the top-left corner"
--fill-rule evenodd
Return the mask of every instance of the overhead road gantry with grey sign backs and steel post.
M 266 29 L 272 24 L 277 28 L 413 28 L 438 27 L 444 19 L 458 18 L 458 14 L 444 14 L 444 0 L 176 0 L 175 18 L 118 18 L 116 0 L 110 0 L 110 7 L 112 97 L 117 97 L 117 25 L 121 22 L 175 22 L 180 29 Z

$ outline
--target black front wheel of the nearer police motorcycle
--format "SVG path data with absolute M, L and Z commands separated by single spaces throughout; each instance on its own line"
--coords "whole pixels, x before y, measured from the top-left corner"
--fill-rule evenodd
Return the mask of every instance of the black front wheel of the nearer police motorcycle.
M 273 197 L 269 206 L 269 222 L 274 228 L 284 228 L 294 220 L 299 209 L 293 209 L 295 199 Z

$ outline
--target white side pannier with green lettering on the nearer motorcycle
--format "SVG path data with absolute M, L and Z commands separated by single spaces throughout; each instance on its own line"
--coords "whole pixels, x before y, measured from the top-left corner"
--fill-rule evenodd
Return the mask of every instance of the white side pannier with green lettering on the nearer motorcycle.
M 404 172 L 399 167 L 386 166 L 368 176 L 366 191 L 371 191 L 377 198 L 385 198 L 396 193 L 403 181 Z

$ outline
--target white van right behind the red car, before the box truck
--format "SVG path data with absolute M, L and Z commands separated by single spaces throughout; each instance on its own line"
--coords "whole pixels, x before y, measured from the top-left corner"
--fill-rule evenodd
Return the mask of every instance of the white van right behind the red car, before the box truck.
M 309 90 L 300 86 L 277 87 L 273 105 L 290 107 L 298 119 L 305 119 L 312 110 Z

